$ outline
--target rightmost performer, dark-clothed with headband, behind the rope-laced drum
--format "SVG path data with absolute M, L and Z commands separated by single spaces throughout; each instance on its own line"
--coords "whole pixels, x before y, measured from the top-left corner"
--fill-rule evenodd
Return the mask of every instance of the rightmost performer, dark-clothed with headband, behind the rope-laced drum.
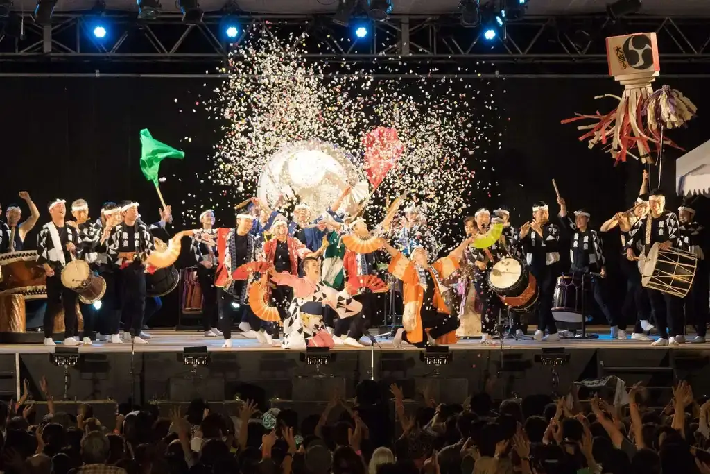
M 690 340 L 690 343 L 699 344 L 705 342 L 708 320 L 708 295 L 710 294 L 710 279 L 708 267 L 705 262 L 703 246 L 705 244 L 705 228 L 694 220 L 695 209 L 688 202 L 684 202 L 678 208 L 678 220 L 680 221 L 680 239 L 683 249 L 698 257 L 698 266 L 693 279 L 693 286 L 690 288 L 688 296 L 684 298 L 683 309 L 685 313 L 685 323 L 694 321 L 697 335 Z M 689 318 L 694 317 L 694 320 Z

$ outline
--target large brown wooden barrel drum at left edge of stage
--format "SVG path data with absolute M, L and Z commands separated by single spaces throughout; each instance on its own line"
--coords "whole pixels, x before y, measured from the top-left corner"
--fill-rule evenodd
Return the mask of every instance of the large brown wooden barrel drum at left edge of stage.
M 0 293 L 20 294 L 26 300 L 47 297 L 46 275 L 37 263 L 37 252 L 0 254 Z

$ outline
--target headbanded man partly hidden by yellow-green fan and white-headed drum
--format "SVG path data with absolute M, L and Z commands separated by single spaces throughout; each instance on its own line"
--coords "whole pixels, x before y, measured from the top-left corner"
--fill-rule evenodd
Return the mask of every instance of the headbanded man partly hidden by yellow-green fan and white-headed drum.
M 474 213 L 477 234 L 485 234 L 491 226 L 491 212 L 486 208 L 476 210 Z M 502 223 L 502 222 L 501 222 Z M 501 240 L 504 243 L 506 237 L 501 235 Z M 470 247 L 469 247 L 470 248 Z M 491 247 L 486 249 L 473 249 L 473 252 L 466 252 L 466 258 L 469 263 L 476 266 L 474 273 L 474 287 L 476 288 L 476 296 L 481 298 L 483 306 L 481 308 L 481 344 L 491 345 L 496 341 L 492 340 L 496 334 L 498 326 L 498 317 L 503 311 L 503 301 L 498 298 L 498 294 L 493 291 L 488 284 L 488 274 L 496 262 L 506 257 L 506 251 L 503 249 L 501 242 L 493 242 Z

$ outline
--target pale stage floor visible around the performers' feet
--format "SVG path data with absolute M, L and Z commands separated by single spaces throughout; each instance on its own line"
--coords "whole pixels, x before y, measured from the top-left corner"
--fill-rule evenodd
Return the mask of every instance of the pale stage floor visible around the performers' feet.
M 503 350 L 540 350 L 541 348 L 565 348 L 567 350 L 574 349 L 656 349 L 651 346 L 649 342 L 644 341 L 634 341 L 634 340 L 611 340 L 609 337 L 608 328 L 604 327 L 591 327 L 588 328 L 589 333 L 594 333 L 599 335 L 599 339 L 591 340 L 560 340 L 558 343 L 537 343 L 532 340 L 512 340 L 506 339 L 503 341 Z M 199 347 L 207 346 L 207 350 L 210 352 L 241 352 L 241 351 L 282 351 L 280 348 L 280 341 L 274 341 L 273 346 L 266 346 L 259 344 L 254 339 L 243 338 L 239 333 L 232 336 L 233 347 L 230 349 L 223 349 L 222 338 L 205 338 L 202 332 L 191 332 L 191 331 L 176 331 L 176 330 L 149 330 L 153 338 L 148 344 L 135 345 L 136 352 L 180 352 L 182 348 L 185 347 Z M 688 338 L 694 337 L 693 335 L 687 336 Z M 376 337 L 378 345 L 375 346 L 375 350 L 395 350 L 392 345 L 392 339 L 385 339 L 381 337 Z M 363 338 L 362 342 L 365 342 L 366 338 Z M 369 344 L 369 342 L 367 342 Z M 60 345 L 58 345 L 60 346 Z M 122 344 L 110 344 L 110 343 L 97 343 L 94 342 L 93 345 L 80 345 L 80 352 L 131 352 L 130 343 Z M 479 338 L 474 339 L 460 339 L 458 343 L 449 346 L 452 350 L 501 350 L 500 345 L 482 345 Z M 708 350 L 710 349 L 710 343 L 705 344 L 682 344 L 679 346 L 660 346 L 660 349 L 674 349 L 674 350 Z M 369 345 L 365 348 L 351 348 L 348 346 L 337 346 L 334 350 L 338 352 L 349 352 L 349 351 L 363 351 L 371 350 Z M 420 350 L 408 345 L 403 344 L 402 351 L 407 350 Z M 42 345 L 42 344 L 0 344 L 0 354 L 42 354 L 53 352 L 53 348 Z M 298 352 L 298 350 L 289 350 L 288 352 Z

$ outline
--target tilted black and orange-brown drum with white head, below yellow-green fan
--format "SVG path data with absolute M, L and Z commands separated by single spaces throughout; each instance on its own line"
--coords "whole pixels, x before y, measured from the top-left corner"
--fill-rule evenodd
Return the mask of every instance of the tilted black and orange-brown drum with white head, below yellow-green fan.
M 501 301 L 516 313 L 530 311 L 540 296 L 535 276 L 525 269 L 520 260 L 513 257 L 496 262 L 486 278 Z

